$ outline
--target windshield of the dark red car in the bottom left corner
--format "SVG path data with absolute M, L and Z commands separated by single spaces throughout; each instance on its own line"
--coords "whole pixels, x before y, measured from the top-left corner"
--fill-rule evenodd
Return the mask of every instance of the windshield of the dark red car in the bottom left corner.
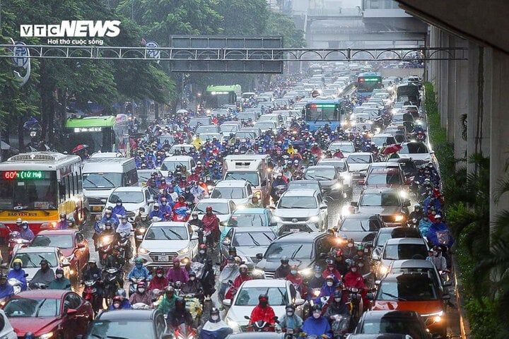
M 4 307 L 9 318 L 59 316 L 60 299 L 11 299 Z

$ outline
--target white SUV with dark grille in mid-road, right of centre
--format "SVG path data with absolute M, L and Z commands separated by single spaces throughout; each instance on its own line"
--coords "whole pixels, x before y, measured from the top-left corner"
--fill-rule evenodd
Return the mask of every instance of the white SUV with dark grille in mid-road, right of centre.
M 327 204 L 320 192 L 314 189 L 286 191 L 274 210 L 279 234 L 285 232 L 312 232 L 327 230 L 329 215 Z

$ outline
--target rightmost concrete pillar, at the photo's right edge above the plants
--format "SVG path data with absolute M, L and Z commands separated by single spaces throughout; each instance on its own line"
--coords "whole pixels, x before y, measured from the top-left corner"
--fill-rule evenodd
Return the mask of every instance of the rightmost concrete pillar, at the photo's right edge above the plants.
M 508 172 L 506 171 L 509 158 L 509 129 L 507 124 L 507 107 L 509 107 L 509 58 L 507 54 L 486 48 L 492 54 L 493 63 L 491 77 L 486 78 L 485 89 L 491 91 L 489 99 L 491 107 L 491 139 L 490 139 L 490 224 L 496 220 L 498 213 L 509 208 L 509 193 L 501 196 L 496 202 L 498 184 Z M 488 65 L 488 64 L 487 64 Z M 491 80 L 491 81 L 488 81 Z M 493 231 L 493 226 L 491 226 Z

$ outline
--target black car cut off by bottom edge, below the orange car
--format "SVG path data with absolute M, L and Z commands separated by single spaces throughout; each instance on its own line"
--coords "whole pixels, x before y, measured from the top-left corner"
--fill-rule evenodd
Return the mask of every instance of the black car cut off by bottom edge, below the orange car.
M 411 335 L 412 339 L 429 339 L 423 319 L 416 311 L 366 311 L 359 319 L 349 338 L 368 338 L 361 334 L 400 334 Z M 356 335 L 359 336 L 356 336 Z M 369 337 L 379 338 L 379 337 Z M 392 337 L 382 337 L 392 338 Z M 405 337 L 397 337 L 405 338 Z M 408 338 L 408 337 L 406 337 Z

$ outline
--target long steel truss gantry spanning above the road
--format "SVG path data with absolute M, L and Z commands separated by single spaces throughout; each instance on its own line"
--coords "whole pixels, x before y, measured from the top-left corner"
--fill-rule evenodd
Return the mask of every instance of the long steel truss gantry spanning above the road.
M 20 48 L 21 46 L 17 46 Z M 467 48 L 384 49 L 175 48 L 25 45 L 23 57 L 167 61 L 433 61 L 467 60 Z M 13 57 L 12 44 L 0 44 L 0 58 Z M 21 57 L 21 56 L 18 56 Z

